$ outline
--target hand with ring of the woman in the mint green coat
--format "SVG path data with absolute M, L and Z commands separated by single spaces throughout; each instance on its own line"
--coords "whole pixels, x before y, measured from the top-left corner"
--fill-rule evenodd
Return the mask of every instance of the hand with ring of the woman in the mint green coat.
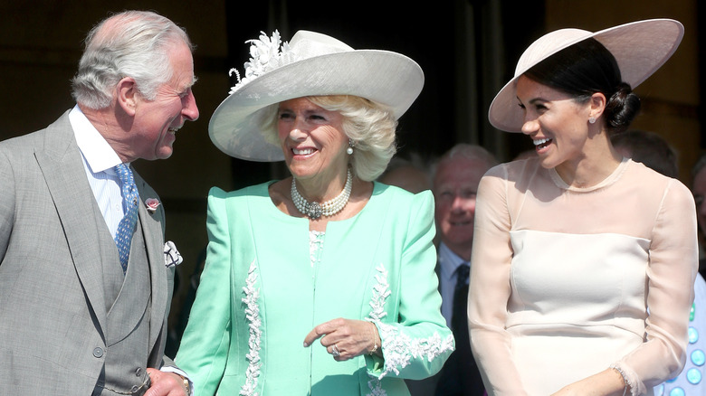
M 352 359 L 361 354 L 380 352 L 380 336 L 377 326 L 364 320 L 338 319 L 317 325 L 304 338 L 307 347 L 317 338 L 337 362 Z

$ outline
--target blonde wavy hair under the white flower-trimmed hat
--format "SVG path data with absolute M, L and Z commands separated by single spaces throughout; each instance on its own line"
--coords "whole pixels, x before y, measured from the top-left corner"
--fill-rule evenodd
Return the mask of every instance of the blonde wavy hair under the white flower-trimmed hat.
M 307 97 L 311 103 L 343 116 L 343 133 L 353 142 L 350 167 L 359 179 L 371 182 L 382 174 L 397 151 L 397 120 L 392 110 L 368 99 L 353 95 Z M 277 138 L 279 104 L 263 108 L 261 132 L 265 140 L 280 146 Z

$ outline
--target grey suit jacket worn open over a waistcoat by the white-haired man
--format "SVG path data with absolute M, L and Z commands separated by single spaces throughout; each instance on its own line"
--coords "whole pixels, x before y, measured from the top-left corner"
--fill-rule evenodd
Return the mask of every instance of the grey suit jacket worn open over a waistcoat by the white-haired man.
M 138 174 L 136 184 L 143 202 L 158 198 Z M 96 212 L 68 112 L 0 143 L 0 394 L 93 391 L 106 348 L 101 250 L 114 249 L 100 245 Z M 161 205 L 149 214 L 140 204 L 138 216 L 153 313 L 147 365 L 159 368 L 174 269 L 164 265 Z

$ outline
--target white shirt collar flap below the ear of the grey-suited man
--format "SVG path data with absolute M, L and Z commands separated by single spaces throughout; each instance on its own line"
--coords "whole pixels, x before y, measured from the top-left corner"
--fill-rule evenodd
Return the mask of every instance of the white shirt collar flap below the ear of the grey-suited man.
M 93 127 L 91 121 L 86 118 L 78 105 L 69 112 L 69 121 L 72 124 L 73 135 L 76 137 L 76 144 L 91 168 L 91 172 L 94 174 L 104 172 L 122 162 L 115 150 L 100 135 L 98 129 Z

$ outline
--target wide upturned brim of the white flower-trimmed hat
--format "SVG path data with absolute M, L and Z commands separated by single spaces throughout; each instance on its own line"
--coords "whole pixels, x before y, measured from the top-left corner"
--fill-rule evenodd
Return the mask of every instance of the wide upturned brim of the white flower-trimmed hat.
M 250 161 L 284 159 L 281 147 L 265 140 L 258 111 L 284 100 L 355 95 L 392 109 L 396 118 L 412 106 L 424 72 L 405 55 L 381 50 L 336 52 L 295 61 L 241 87 L 215 109 L 208 134 L 229 156 Z

